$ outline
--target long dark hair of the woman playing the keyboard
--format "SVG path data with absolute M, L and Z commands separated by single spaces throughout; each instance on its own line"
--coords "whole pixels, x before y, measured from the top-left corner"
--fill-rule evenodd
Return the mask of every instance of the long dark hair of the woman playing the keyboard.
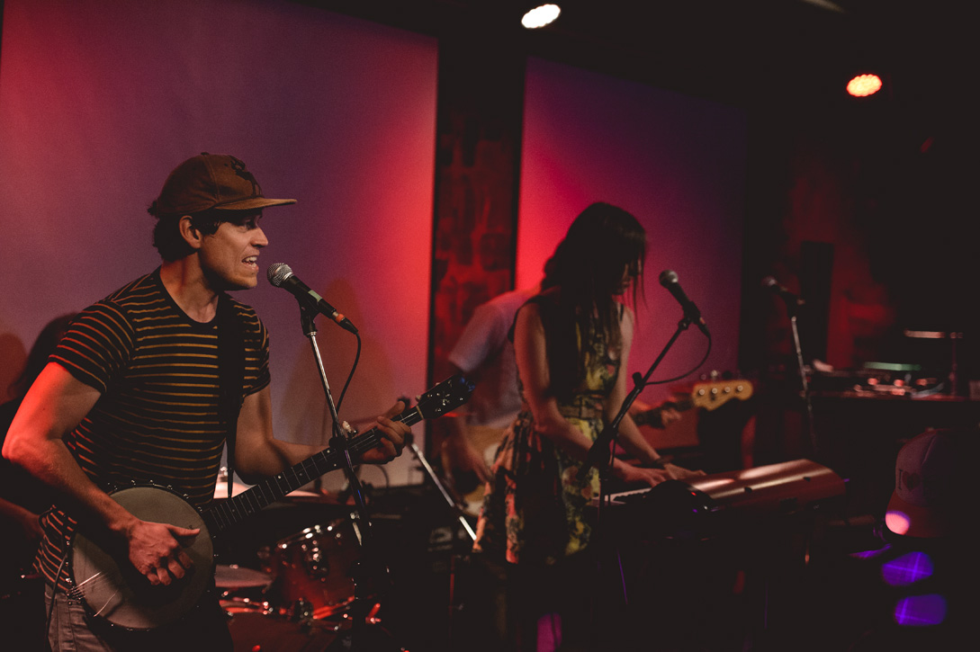
M 554 293 L 557 303 L 554 311 L 542 311 L 550 389 L 556 396 L 582 378 L 588 347 L 584 341 L 580 346 L 580 338 L 600 333 L 611 349 L 621 344 L 616 296 L 626 271 L 632 281 L 631 303 L 636 303 L 646 256 L 647 234 L 639 220 L 610 204 L 593 204 L 568 227 L 545 263 L 542 281 L 542 292 Z

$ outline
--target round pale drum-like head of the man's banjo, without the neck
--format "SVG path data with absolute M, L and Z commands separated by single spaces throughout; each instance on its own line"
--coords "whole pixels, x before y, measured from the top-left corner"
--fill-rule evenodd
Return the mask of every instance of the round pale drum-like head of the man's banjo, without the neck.
M 155 629 L 178 620 L 198 603 L 214 571 L 214 545 L 200 513 L 171 489 L 161 487 L 121 489 L 112 497 L 143 521 L 200 528 L 197 536 L 184 541 L 184 553 L 193 565 L 170 586 L 154 586 L 122 554 L 114 555 L 76 533 L 74 590 L 93 615 L 125 629 Z

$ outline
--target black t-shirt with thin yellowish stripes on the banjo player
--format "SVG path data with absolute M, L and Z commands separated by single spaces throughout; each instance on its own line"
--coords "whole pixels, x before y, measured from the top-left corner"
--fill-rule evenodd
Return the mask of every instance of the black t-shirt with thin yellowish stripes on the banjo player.
M 269 385 L 269 334 L 251 307 L 231 300 L 242 324 L 242 396 Z M 219 418 L 218 326 L 188 317 L 160 270 L 80 312 L 51 360 L 102 396 L 65 437 L 102 489 L 135 482 L 171 487 L 199 508 L 213 498 L 224 426 Z M 35 566 L 50 582 L 75 521 L 56 508 L 42 518 Z M 58 584 L 68 589 L 66 570 Z

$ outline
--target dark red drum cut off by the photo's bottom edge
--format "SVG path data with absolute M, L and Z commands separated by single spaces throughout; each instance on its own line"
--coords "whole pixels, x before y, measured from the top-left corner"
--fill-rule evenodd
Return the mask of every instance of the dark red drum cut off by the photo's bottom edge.
M 221 600 L 228 614 L 234 652 L 324 652 L 339 649 L 339 629 L 326 623 L 295 623 L 270 610 L 267 603 Z

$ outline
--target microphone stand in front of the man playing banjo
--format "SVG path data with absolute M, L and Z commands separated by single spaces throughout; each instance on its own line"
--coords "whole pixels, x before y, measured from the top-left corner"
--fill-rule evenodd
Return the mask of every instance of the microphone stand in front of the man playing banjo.
M 344 451 L 342 457 L 343 468 L 345 474 L 347 475 L 348 487 L 351 495 L 354 496 L 355 503 L 354 511 L 350 516 L 354 521 L 354 532 L 358 536 L 361 549 L 369 551 L 371 550 L 370 521 L 368 520 L 368 508 L 365 505 L 364 500 L 364 489 L 361 486 L 361 481 L 358 479 L 357 474 L 354 472 L 354 463 L 351 460 L 351 451 L 348 447 L 348 438 L 344 434 L 343 429 L 340 427 L 340 418 L 337 415 L 337 406 L 333 402 L 333 396 L 330 394 L 330 384 L 326 380 L 326 371 L 323 369 L 323 360 L 319 354 L 319 347 L 317 346 L 317 326 L 314 323 L 314 318 L 318 314 L 319 311 L 317 309 L 309 307 L 303 303 L 300 304 L 300 321 L 303 325 L 303 334 L 310 338 L 310 346 L 313 349 L 314 358 L 317 362 L 317 371 L 319 372 L 320 384 L 323 386 L 323 395 L 326 398 L 326 404 L 330 410 L 330 417 L 333 419 L 333 437 L 330 438 L 328 445 L 331 450 Z M 351 607 L 353 622 L 350 630 L 351 648 L 353 649 L 355 648 L 355 639 L 360 637 L 359 634 L 364 631 L 364 628 L 368 623 L 368 611 L 365 609 L 364 603 L 366 578 L 365 569 L 362 562 L 355 562 L 351 575 L 352 579 L 354 580 L 354 603 Z

